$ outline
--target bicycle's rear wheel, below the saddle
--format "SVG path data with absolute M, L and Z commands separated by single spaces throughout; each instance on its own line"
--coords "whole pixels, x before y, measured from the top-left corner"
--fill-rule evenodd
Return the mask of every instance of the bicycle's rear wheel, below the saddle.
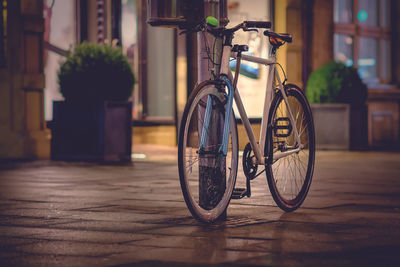
M 285 91 L 301 144 L 296 141 L 295 127 L 278 92 L 269 112 L 266 174 L 276 204 L 284 211 L 293 211 L 303 203 L 311 185 L 315 138 L 311 109 L 304 93 L 295 85 L 286 85 Z

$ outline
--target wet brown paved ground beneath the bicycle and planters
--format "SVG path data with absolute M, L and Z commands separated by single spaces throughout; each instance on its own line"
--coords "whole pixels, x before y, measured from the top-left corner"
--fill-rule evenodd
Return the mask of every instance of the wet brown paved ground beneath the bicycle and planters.
M 261 175 L 206 225 L 185 206 L 175 149 L 135 152 L 147 157 L 0 164 L 0 265 L 400 266 L 400 153 L 318 151 L 297 211 Z

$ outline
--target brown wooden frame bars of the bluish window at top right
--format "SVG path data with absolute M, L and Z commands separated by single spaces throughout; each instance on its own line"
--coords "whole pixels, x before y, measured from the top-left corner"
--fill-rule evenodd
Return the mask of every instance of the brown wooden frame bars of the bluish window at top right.
M 352 23 L 336 23 L 334 21 L 333 25 L 333 33 L 334 34 L 344 34 L 344 35 L 350 35 L 353 38 L 353 66 L 358 68 L 358 60 L 359 60 L 359 54 L 360 54 L 360 38 L 361 37 L 367 37 L 367 38 L 375 38 L 378 40 L 378 51 L 377 51 L 377 59 L 378 59 L 378 73 L 377 73 L 377 78 L 378 78 L 378 83 L 371 84 L 372 87 L 377 87 L 380 84 L 389 84 L 392 81 L 392 73 L 391 73 L 391 54 L 392 54 L 392 20 L 391 20 L 391 12 L 390 12 L 390 7 L 392 6 L 392 0 L 387 0 L 386 4 L 386 10 L 388 11 L 387 13 L 387 27 L 383 27 L 382 24 L 382 5 L 384 2 L 377 0 L 378 2 L 378 10 L 377 10 L 377 20 L 378 20 L 378 26 L 365 26 L 359 23 L 358 18 L 357 18 L 357 13 L 360 8 L 360 1 L 359 0 L 353 0 L 353 10 L 352 10 L 352 16 L 353 16 L 353 21 Z M 335 8 L 335 7 L 334 7 Z M 334 10 L 335 12 L 335 10 Z M 388 42 L 388 62 L 387 62 L 387 67 L 388 67 L 388 73 L 387 73 L 387 78 L 384 78 L 384 75 L 382 73 L 383 69 L 383 55 L 382 55 L 382 42 L 383 40 L 387 40 Z

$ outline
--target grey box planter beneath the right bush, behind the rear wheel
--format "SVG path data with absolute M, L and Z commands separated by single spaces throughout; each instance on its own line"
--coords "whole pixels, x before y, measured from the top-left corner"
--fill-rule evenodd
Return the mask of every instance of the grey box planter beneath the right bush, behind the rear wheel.
M 311 104 L 317 149 L 365 149 L 367 127 L 365 106 Z

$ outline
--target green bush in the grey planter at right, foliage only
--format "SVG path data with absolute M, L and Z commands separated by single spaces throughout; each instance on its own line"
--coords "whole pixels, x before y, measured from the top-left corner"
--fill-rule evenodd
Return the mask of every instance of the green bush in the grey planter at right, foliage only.
M 329 62 L 311 73 L 306 95 L 310 103 L 365 102 L 367 86 L 362 82 L 357 69 L 343 63 Z

